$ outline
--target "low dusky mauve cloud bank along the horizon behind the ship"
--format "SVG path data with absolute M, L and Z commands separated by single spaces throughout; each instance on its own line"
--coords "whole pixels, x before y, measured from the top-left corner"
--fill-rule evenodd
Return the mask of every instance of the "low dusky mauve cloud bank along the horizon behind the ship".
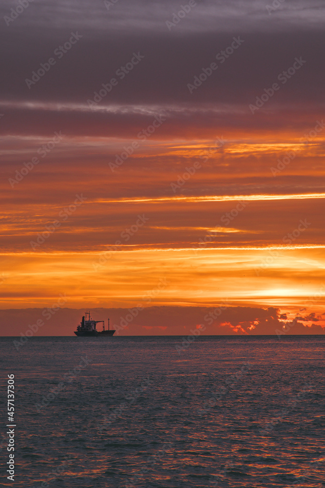
M 32 326 L 40 324 L 32 335 L 61 336 L 73 335 L 84 309 L 63 308 L 51 311 L 47 308 L 0 310 L 3 331 L 8 336 L 26 335 Z M 95 320 L 110 317 L 111 327 L 117 326 L 118 335 L 189 335 L 191 330 L 201 325 L 204 335 L 290 335 L 323 334 L 324 328 L 314 324 L 318 319 L 314 313 L 308 317 L 298 317 L 284 322 L 286 315 L 279 308 L 268 307 L 180 307 L 153 306 L 142 310 L 133 308 L 93 308 L 91 316 Z M 310 319 L 308 325 L 300 320 Z M 30 327 L 30 326 L 31 327 Z M 100 324 L 101 325 L 101 324 Z M 202 327 L 203 326 L 203 327 Z M 36 329 L 34 327 L 34 329 Z M 27 333 L 30 335 L 30 332 Z

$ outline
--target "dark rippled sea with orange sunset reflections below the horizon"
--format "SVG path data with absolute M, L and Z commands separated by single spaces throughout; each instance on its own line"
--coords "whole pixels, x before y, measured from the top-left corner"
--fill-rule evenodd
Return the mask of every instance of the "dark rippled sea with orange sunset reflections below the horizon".
M 325 487 L 325 336 L 0 339 L 15 488 Z

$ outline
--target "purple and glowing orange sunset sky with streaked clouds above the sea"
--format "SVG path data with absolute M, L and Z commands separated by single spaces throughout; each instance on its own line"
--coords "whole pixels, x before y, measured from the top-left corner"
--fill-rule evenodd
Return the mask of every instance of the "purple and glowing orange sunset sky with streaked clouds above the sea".
M 2 335 L 61 296 L 54 335 L 324 333 L 322 1 L 0 14 Z

